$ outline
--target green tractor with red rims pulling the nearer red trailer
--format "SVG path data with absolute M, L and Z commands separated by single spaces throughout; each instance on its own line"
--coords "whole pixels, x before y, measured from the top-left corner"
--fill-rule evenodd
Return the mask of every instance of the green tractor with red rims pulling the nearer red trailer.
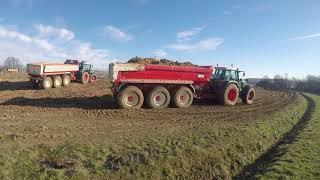
M 242 77 L 240 74 L 242 73 Z M 239 99 L 245 104 L 252 104 L 255 99 L 255 90 L 243 79 L 243 71 L 215 67 L 215 73 L 210 81 L 210 92 L 223 105 L 234 106 Z

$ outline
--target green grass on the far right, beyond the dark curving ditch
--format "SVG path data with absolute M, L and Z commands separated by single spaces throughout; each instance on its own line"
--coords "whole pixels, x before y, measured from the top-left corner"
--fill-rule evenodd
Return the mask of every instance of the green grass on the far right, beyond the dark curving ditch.
M 279 147 L 285 151 L 263 172 L 261 179 L 319 179 L 320 178 L 320 97 L 306 94 L 314 102 L 310 119 L 292 144 Z

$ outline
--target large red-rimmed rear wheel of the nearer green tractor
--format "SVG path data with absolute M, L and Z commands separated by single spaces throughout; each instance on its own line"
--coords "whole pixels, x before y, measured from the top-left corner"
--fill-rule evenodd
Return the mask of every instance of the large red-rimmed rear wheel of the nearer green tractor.
M 219 103 L 226 106 L 234 106 L 239 99 L 239 88 L 235 84 L 228 84 L 218 93 Z

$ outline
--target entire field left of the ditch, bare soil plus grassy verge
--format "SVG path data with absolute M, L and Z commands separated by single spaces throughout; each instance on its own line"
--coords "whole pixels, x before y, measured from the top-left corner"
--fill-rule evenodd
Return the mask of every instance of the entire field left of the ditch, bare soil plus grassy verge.
M 189 109 L 122 110 L 110 85 L 100 78 L 34 90 L 27 78 L 2 78 L 0 161 L 7 164 L 0 163 L 6 167 L 0 178 L 230 178 L 306 107 L 296 93 L 257 89 L 251 106 L 196 102 Z

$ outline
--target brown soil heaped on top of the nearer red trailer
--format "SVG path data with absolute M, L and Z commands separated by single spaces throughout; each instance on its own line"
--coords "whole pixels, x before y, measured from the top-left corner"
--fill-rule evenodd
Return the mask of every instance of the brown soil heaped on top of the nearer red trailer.
M 134 57 L 128 61 L 128 63 L 138 63 L 138 64 L 162 64 L 169 66 L 198 66 L 192 64 L 191 62 L 178 62 L 169 59 L 155 59 L 155 58 L 142 58 Z

